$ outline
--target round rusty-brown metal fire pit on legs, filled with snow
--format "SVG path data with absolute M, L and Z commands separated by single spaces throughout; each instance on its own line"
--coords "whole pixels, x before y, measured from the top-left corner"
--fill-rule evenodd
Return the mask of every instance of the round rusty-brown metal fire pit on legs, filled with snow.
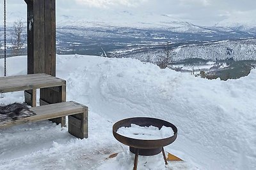
M 122 136 L 121 134 L 118 134 L 116 131 L 120 127 L 131 127 L 131 124 L 140 125 L 141 127 L 149 127 L 150 125 L 158 127 L 161 129 L 161 127 L 164 125 L 166 127 L 172 127 L 172 130 L 174 132 L 173 136 L 170 136 L 169 138 L 163 138 L 163 139 L 134 139 L 134 138 L 128 138 L 126 136 Z M 161 119 L 157 118 L 149 118 L 149 117 L 134 117 L 134 118 L 126 118 L 124 120 L 120 120 L 116 122 L 113 125 L 113 135 L 114 137 L 120 141 L 120 143 L 124 143 L 125 145 L 129 146 L 129 149 L 132 153 L 135 154 L 134 159 L 134 167 L 133 169 L 137 169 L 138 165 L 138 155 L 143 156 L 151 156 L 151 155 L 157 155 L 158 153 L 162 152 L 164 157 L 165 164 L 167 163 L 166 156 L 164 153 L 164 146 L 170 145 L 175 141 L 177 138 L 177 127 L 175 125 L 171 124 L 170 122 L 166 122 Z

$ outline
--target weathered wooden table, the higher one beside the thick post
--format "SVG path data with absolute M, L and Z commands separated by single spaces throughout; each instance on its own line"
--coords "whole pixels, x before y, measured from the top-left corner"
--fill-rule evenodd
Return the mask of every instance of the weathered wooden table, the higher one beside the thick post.
M 66 81 L 49 74 L 26 74 L 0 78 L 0 93 L 25 90 L 25 102 L 36 106 L 36 89 L 40 89 L 40 105 L 66 101 Z M 65 117 L 54 121 L 65 126 Z

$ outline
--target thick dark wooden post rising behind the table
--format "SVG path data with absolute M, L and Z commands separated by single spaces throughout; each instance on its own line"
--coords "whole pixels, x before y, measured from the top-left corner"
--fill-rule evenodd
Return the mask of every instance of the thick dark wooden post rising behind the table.
M 28 6 L 28 74 L 56 76 L 56 0 L 24 1 Z M 40 104 L 66 101 L 64 89 L 66 87 L 59 91 L 40 89 Z M 25 94 L 26 103 L 32 103 L 29 96 L 34 96 L 33 91 L 27 90 Z M 65 117 L 54 122 L 65 125 Z

